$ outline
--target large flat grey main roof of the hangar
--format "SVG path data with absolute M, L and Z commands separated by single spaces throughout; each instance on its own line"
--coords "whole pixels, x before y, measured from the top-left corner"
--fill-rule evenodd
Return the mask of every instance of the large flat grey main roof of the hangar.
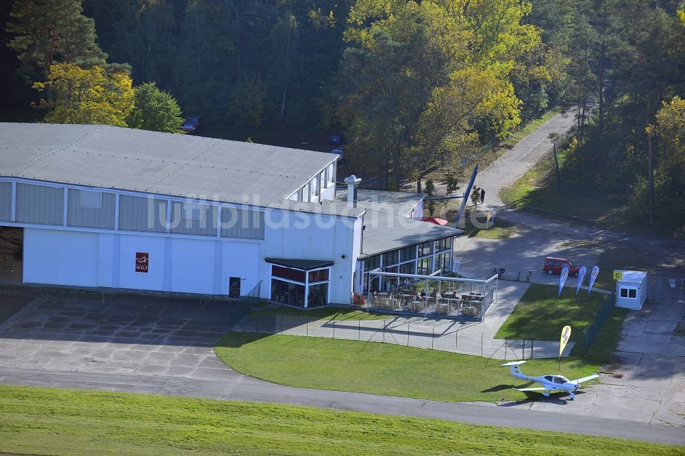
M 108 125 L 0 123 L 0 175 L 266 206 L 338 155 Z

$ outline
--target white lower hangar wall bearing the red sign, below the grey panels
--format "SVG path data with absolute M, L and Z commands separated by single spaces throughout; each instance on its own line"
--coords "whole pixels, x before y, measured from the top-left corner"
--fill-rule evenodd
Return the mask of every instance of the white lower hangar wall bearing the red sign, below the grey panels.
M 64 286 L 228 294 L 229 277 L 247 293 L 260 280 L 257 241 L 56 229 L 24 230 L 23 281 Z M 136 252 L 149 254 L 136 272 Z

